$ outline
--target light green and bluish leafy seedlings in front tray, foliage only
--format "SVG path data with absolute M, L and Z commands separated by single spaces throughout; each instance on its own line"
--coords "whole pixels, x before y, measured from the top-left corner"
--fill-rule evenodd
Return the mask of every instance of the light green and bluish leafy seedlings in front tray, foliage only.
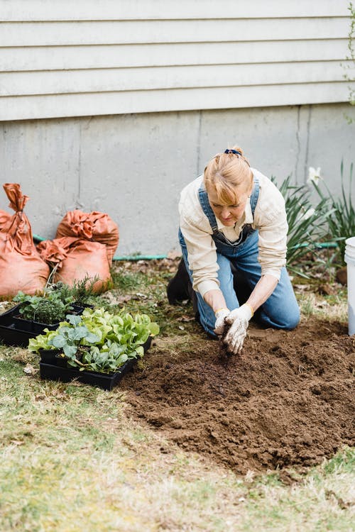
M 111 314 L 105 309 L 85 309 L 81 316 L 67 316 L 57 331 L 31 338 L 28 349 L 57 348 L 72 367 L 114 372 L 127 360 L 142 357 L 143 344 L 159 333 L 159 326 L 146 314 Z

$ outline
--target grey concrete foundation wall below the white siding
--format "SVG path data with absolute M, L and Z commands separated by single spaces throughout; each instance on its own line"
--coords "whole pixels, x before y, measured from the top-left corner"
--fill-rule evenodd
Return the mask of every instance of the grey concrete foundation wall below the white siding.
M 352 117 L 352 123 L 346 120 Z M 1 184 L 30 196 L 33 233 L 53 238 L 66 211 L 107 212 L 119 224 L 116 255 L 178 247 L 180 190 L 209 158 L 238 144 L 253 167 L 281 182 L 308 167 L 337 193 L 340 165 L 355 162 L 348 104 L 142 113 L 0 123 Z M 1 192 L 1 191 L 0 191 Z M 4 192 L 0 209 L 9 210 Z

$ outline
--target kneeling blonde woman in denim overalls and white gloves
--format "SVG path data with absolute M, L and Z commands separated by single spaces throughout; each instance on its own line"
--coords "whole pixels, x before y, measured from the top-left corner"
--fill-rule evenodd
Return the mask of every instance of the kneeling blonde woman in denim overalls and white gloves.
M 226 349 L 237 354 L 256 311 L 268 327 L 297 326 L 300 309 L 285 269 L 285 201 L 268 177 L 250 167 L 241 148 L 209 161 L 204 175 L 182 190 L 179 212 L 182 257 L 207 333 L 223 335 Z M 249 285 L 241 306 L 231 266 Z

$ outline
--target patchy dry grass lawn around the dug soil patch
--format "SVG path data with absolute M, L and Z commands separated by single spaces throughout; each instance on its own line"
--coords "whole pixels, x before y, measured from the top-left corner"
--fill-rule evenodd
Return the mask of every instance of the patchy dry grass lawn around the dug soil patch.
M 116 262 L 114 288 L 95 303 L 146 312 L 166 350 L 193 348 L 204 334 L 190 304 L 170 306 L 165 296 L 175 267 Z M 303 320 L 346 321 L 344 289 L 324 295 L 320 282 L 294 282 Z M 351 448 L 307 472 L 237 476 L 131 419 L 119 387 L 43 381 L 36 355 L 6 345 L 0 450 L 0 531 L 354 530 Z

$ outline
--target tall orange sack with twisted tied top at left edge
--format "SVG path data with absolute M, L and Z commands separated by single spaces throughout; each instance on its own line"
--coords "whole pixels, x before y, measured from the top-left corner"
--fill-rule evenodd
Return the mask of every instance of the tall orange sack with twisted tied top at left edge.
M 45 287 L 50 269 L 35 249 L 31 225 L 23 213 L 28 196 L 18 183 L 3 187 L 16 212 L 0 211 L 0 297 L 13 297 L 19 290 L 33 295 Z

